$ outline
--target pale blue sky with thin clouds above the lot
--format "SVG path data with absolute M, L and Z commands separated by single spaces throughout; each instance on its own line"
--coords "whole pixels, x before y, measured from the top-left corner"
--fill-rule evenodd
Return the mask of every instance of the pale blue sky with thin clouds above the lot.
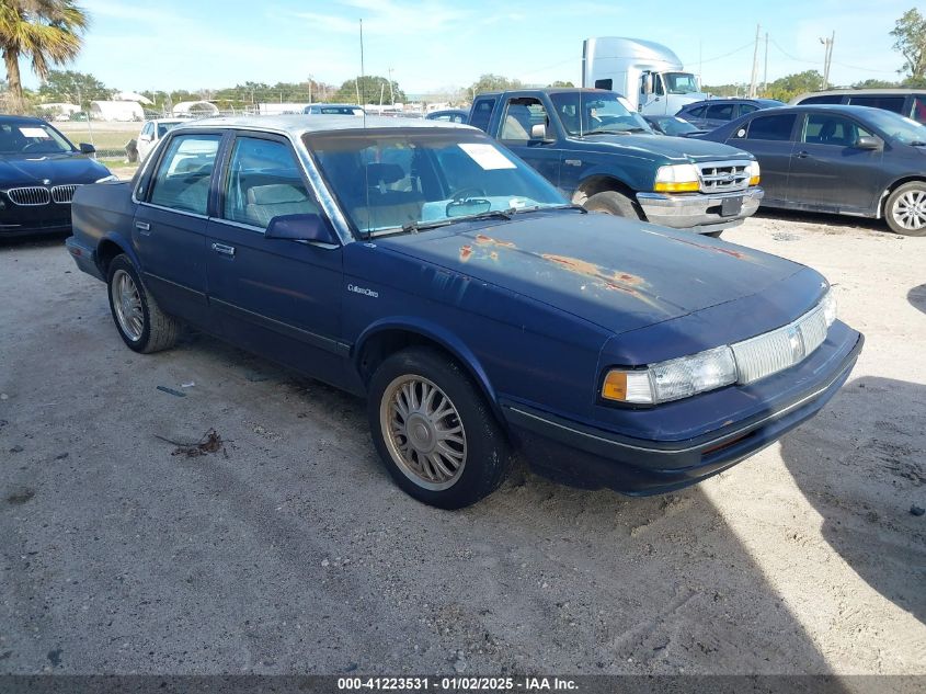
M 768 80 L 823 71 L 820 38 L 835 32 L 831 82 L 896 79 L 889 32 L 916 0 L 748 3 L 575 0 L 78 0 L 91 19 L 67 69 L 106 87 L 147 91 L 245 81 L 340 86 L 361 70 L 408 94 L 453 92 L 482 73 L 528 84 L 581 83 L 582 41 L 631 36 L 672 48 L 707 84 L 748 82 L 756 25 L 768 33 Z M 759 45 L 759 81 L 765 43 Z M 23 61 L 26 87 L 38 80 Z

